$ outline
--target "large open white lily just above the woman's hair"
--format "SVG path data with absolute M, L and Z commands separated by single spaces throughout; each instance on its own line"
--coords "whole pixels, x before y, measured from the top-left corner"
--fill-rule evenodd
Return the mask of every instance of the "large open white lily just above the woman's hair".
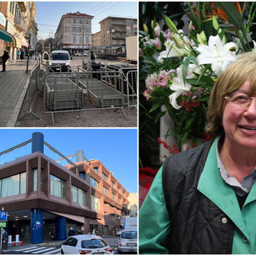
M 198 46 L 198 64 L 212 64 L 212 70 L 217 76 L 222 74 L 231 62 L 236 60 L 236 55 L 230 49 L 237 49 L 234 42 L 228 42 L 223 45 L 221 38 L 218 35 L 210 36 L 208 46 L 200 44 Z

